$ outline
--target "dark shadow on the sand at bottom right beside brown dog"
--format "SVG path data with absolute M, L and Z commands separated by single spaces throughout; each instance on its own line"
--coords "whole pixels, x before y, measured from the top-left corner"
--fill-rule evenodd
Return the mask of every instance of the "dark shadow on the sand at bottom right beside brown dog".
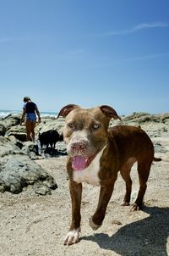
M 97 233 L 81 239 L 96 242 L 100 248 L 123 256 L 168 256 L 166 239 L 169 235 L 169 208 L 144 206 L 142 210 L 150 216 L 124 225 L 112 237 Z

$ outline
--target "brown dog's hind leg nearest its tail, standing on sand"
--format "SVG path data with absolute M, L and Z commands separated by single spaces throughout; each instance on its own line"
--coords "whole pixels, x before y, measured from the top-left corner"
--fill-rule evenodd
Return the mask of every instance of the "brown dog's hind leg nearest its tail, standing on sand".
M 144 193 L 147 188 L 147 180 L 150 175 L 150 166 L 152 161 L 149 163 L 138 163 L 138 173 L 139 173 L 139 193 L 134 202 L 134 205 L 131 210 L 139 210 L 143 203 Z

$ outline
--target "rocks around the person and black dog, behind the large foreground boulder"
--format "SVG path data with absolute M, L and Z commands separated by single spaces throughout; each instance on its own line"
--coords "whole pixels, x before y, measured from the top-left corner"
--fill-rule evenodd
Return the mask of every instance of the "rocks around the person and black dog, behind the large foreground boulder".
M 56 130 L 59 134 L 62 134 L 64 119 L 55 117 L 42 117 L 41 123 L 35 126 L 35 145 L 26 142 L 26 129 L 25 125 L 19 125 L 20 116 L 14 114 L 8 114 L 7 117 L 0 120 L 0 135 L 11 138 L 14 137 L 22 142 L 20 145 L 23 147 L 25 153 L 30 155 L 31 159 L 37 159 L 39 157 L 40 143 L 39 133 L 49 130 Z M 1 128 L 2 127 L 2 128 Z M 66 147 L 64 142 L 57 142 L 56 149 L 51 151 L 50 148 L 44 151 L 43 157 L 57 156 L 66 154 Z

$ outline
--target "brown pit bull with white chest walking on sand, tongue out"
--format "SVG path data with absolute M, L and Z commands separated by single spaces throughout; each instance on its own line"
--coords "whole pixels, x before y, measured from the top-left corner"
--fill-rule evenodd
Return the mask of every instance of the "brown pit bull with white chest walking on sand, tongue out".
M 155 159 L 153 143 L 139 127 L 117 125 L 108 128 L 112 118 L 120 119 L 109 106 L 81 109 L 69 104 L 60 110 L 57 118 L 59 116 L 66 117 L 63 138 L 67 144 L 72 200 L 72 223 L 64 244 L 71 245 L 79 242 L 82 182 L 101 186 L 97 209 L 90 218 L 90 226 L 96 230 L 105 218 L 118 170 L 126 183 L 123 205 L 128 205 L 132 190 L 130 170 L 135 162 L 138 163 L 139 193 L 132 208 L 137 210 L 143 203 L 152 161 L 161 159 Z

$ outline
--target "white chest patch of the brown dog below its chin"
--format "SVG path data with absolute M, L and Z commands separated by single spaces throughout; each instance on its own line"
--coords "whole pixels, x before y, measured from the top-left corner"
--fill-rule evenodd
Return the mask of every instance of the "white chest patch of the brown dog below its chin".
M 100 159 L 104 148 L 95 156 L 95 159 L 90 163 L 85 170 L 74 170 L 73 180 L 77 183 L 87 182 L 94 186 L 100 186 L 98 172 L 100 170 Z

